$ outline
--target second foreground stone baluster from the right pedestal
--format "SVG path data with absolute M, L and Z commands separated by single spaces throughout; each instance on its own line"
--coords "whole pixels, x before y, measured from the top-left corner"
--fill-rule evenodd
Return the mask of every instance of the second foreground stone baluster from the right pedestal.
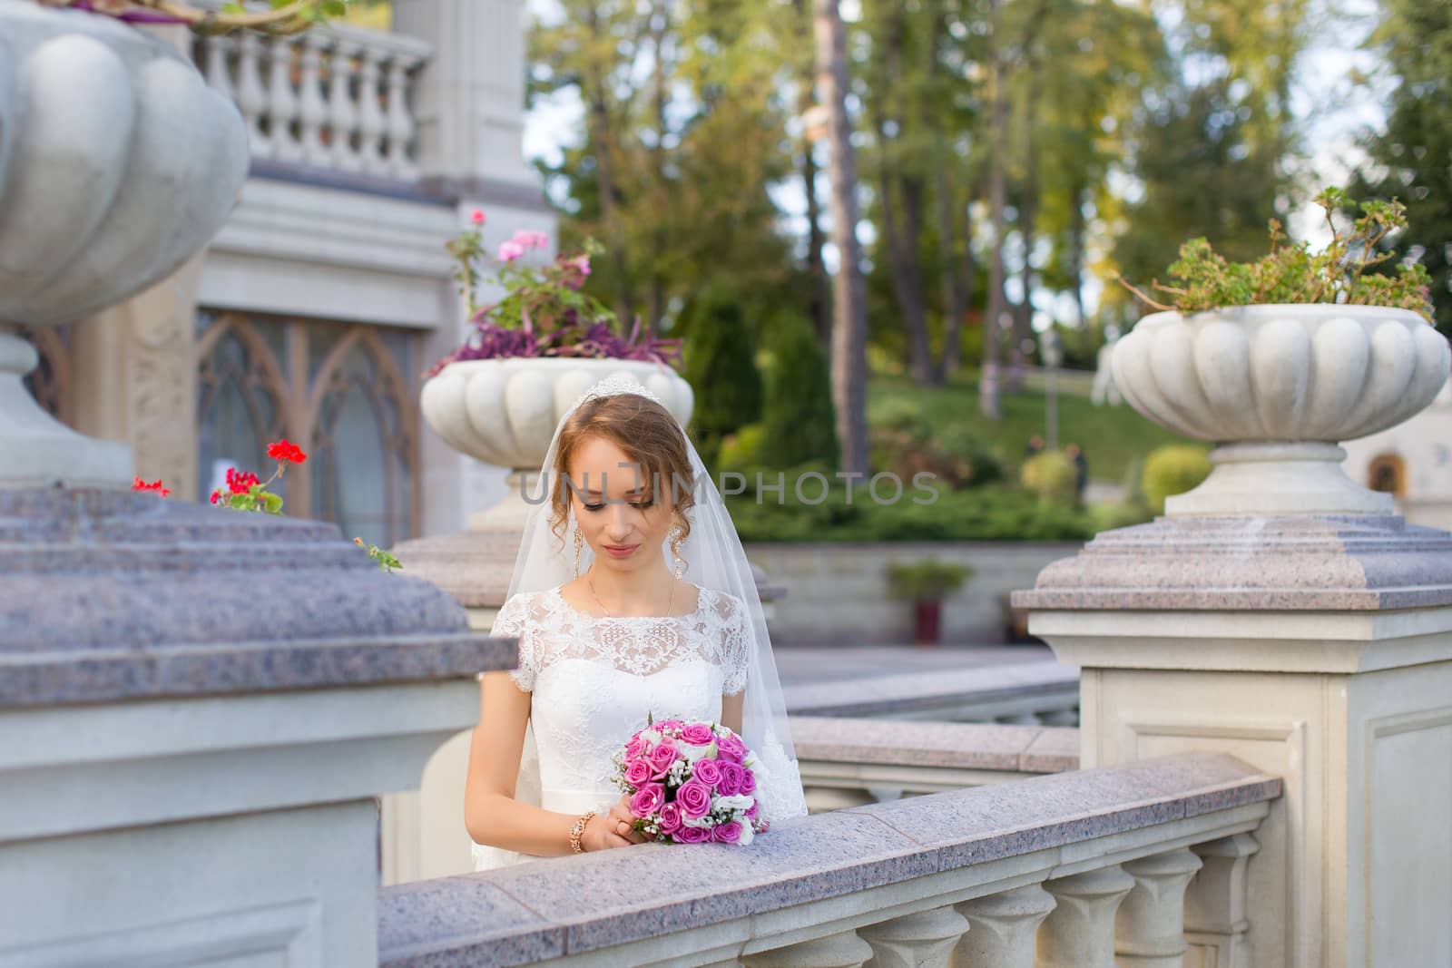
M 1115 916 L 1119 967 L 1182 968 L 1185 952 L 1185 887 L 1199 858 L 1186 849 L 1156 853 L 1122 865 L 1134 878 Z

